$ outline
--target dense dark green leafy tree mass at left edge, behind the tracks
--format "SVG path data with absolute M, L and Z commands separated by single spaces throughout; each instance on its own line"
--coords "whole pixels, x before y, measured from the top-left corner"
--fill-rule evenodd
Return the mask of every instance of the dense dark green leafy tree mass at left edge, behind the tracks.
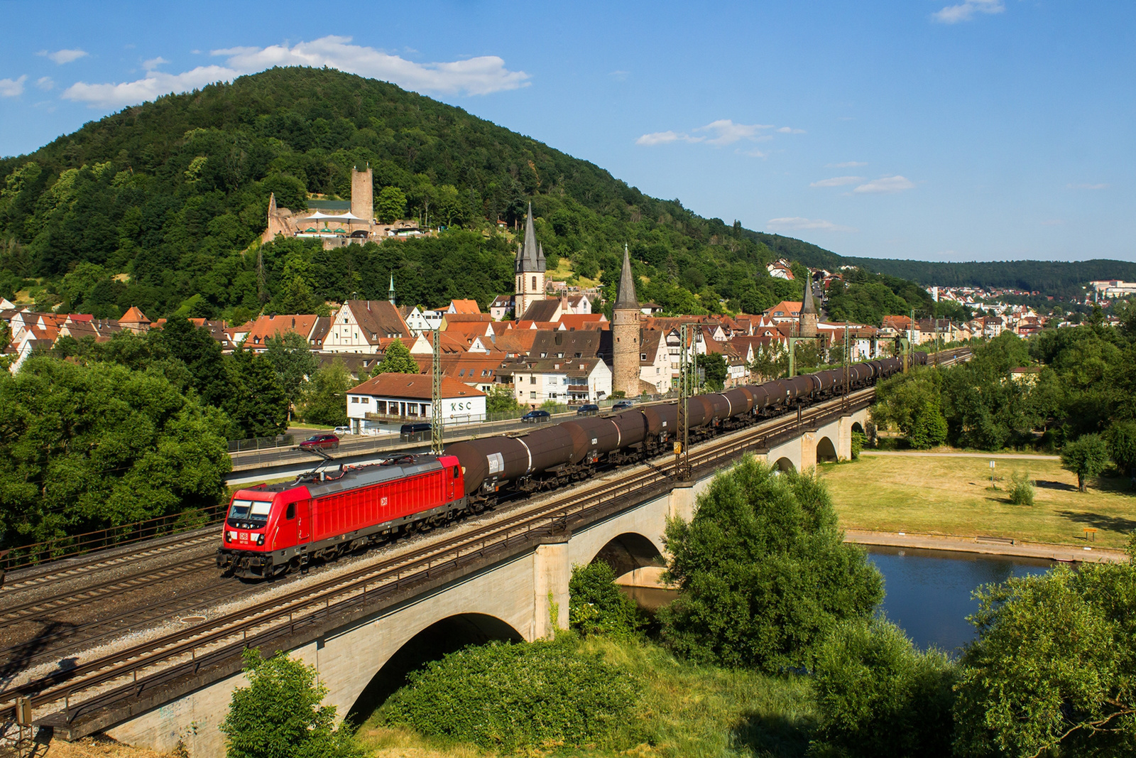
M 216 505 L 226 425 L 159 374 L 33 356 L 0 374 L 0 543 Z

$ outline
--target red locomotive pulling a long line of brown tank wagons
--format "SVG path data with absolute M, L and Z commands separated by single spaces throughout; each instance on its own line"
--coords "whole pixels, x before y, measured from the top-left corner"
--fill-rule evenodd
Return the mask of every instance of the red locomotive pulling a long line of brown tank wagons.
M 926 364 L 928 357 L 917 352 L 912 359 Z M 741 428 L 869 386 L 901 369 L 899 358 L 884 358 L 695 395 L 687 405 L 690 435 L 698 441 Z M 600 466 L 669 452 L 677 433 L 678 405 L 657 403 L 519 435 L 454 442 L 441 456 L 341 466 L 293 483 L 240 490 L 225 518 L 217 565 L 227 576 L 278 576 L 311 560 L 334 559 L 373 542 L 481 513 L 509 494 L 551 490 L 587 478 Z

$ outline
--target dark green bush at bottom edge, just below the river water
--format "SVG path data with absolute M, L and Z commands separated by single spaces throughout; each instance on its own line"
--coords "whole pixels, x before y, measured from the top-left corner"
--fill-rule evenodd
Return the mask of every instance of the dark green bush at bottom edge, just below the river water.
M 887 620 L 845 622 L 817 655 L 817 736 L 844 756 L 950 756 L 955 672 Z

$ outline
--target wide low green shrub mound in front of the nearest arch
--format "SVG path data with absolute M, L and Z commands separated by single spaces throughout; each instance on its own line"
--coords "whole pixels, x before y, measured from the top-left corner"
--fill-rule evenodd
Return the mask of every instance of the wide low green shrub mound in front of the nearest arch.
M 408 678 L 382 707 L 386 724 L 507 752 L 610 741 L 641 690 L 627 672 L 575 650 L 571 635 L 465 648 Z

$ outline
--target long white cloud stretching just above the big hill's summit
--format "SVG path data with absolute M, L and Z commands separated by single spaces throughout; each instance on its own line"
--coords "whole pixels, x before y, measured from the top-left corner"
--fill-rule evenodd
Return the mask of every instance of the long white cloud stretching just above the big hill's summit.
M 224 65 L 198 66 L 181 74 L 147 70 L 143 78 L 117 84 L 77 82 L 64 91 L 68 100 L 95 107 L 127 106 L 153 100 L 169 92 L 185 92 L 214 82 L 227 82 L 273 66 L 324 66 L 349 74 L 393 82 L 399 86 L 443 94 L 488 94 L 528 85 L 528 74 L 509 70 L 496 56 L 481 56 L 452 63 L 417 64 L 375 48 L 351 44 L 349 36 L 324 36 L 267 48 L 231 48 L 210 55 L 225 58 Z M 158 61 L 154 58 L 148 64 Z M 158 65 L 154 63 L 154 65 Z

